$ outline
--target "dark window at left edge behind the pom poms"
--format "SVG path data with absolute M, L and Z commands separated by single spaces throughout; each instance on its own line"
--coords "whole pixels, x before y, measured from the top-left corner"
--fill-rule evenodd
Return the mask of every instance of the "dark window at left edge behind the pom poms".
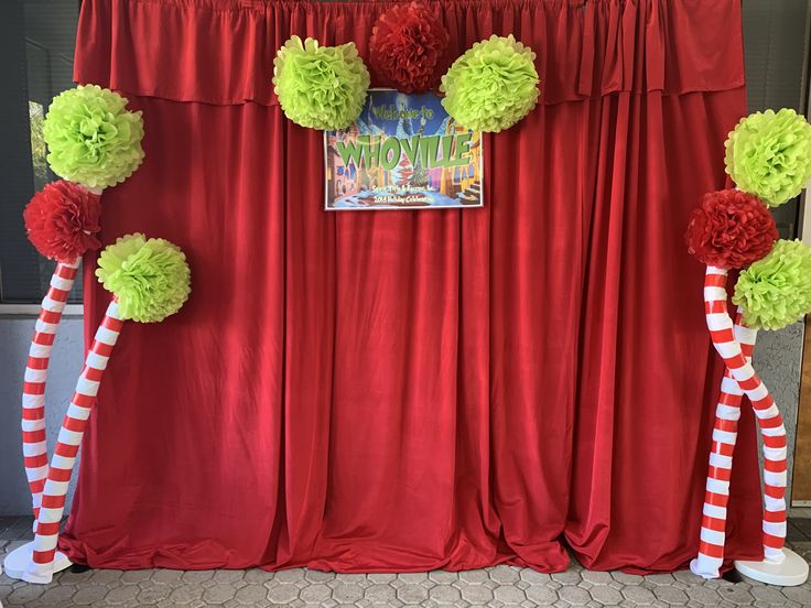
M 54 262 L 25 239 L 22 209 L 56 178 L 45 160 L 42 121 L 54 95 L 73 86 L 77 1 L 11 0 L 0 19 L 0 302 L 39 303 Z M 80 276 L 71 302 L 82 301 Z

